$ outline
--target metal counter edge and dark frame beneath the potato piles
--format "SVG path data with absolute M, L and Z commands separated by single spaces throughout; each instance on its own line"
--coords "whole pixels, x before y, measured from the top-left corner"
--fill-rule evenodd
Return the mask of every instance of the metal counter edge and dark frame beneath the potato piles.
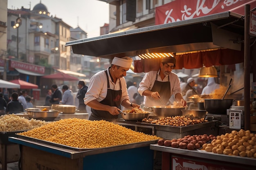
M 254 158 L 215 154 L 213 152 L 206 152 L 204 150 L 186 150 L 186 149 L 172 148 L 172 147 L 166 147 L 166 146 L 159 146 L 158 144 L 151 144 L 150 149 L 161 151 L 163 153 L 162 154 L 162 159 L 163 159 L 162 170 L 168 169 L 168 168 L 165 168 L 164 166 L 166 166 L 166 164 L 167 166 L 170 165 L 171 155 L 182 155 L 182 157 L 183 156 L 192 157 L 193 159 L 200 159 L 200 160 L 209 159 L 214 163 L 216 163 L 216 161 L 220 161 L 220 162 L 226 162 L 229 164 L 240 164 L 240 165 L 244 165 L 245 167 L 249 166 L 249 168 L 252 168 L 252 167 L 256 168 L 256 159 Z

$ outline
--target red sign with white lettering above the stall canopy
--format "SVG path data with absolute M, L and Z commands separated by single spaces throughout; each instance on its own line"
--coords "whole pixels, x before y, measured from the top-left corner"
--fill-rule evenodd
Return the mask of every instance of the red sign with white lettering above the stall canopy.
M 256 0 L 175 0 L 155 8 L 155 24 L 166 24 L 232 11 L 245 13 L 245 4 L 255 7 Z

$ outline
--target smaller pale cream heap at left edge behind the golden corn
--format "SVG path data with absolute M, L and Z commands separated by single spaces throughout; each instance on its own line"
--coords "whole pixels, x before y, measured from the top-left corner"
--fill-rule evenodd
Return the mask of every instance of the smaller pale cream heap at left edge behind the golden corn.
M 0 116 L 0 132 L 12 132 L 18 130 L 30 130 L 46 125 L 49 122 L 25 119 L 14 114 Z

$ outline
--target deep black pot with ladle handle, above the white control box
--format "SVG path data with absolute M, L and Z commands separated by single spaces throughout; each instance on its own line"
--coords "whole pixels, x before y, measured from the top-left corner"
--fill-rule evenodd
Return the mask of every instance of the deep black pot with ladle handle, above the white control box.
M 204 108 L 208 113 L 226 115 L 233 99 L 204 99 Z

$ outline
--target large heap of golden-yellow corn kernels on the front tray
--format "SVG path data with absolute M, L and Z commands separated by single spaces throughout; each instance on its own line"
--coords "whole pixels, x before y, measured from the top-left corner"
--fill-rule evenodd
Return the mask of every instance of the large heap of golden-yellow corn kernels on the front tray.
M 19 135 L 74 148 L 104 148 L 161 139 L 105 120 L 90 121 L 77 118 L 61 119 Z

